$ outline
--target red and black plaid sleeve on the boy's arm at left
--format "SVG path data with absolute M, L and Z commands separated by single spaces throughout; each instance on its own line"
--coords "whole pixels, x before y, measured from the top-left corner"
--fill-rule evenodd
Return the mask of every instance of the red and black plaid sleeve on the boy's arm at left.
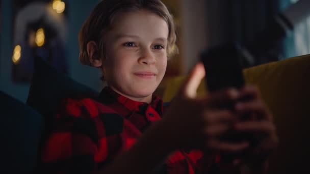
M 104 163 L 108 153 L 99 141 L 98 126 L 102 130 L 104 127 L 97 119 L 94 103 L 91 99 L 65 99 L 56 116 L 42 148 L 40 171 L 94 173 L 98 162 Z

